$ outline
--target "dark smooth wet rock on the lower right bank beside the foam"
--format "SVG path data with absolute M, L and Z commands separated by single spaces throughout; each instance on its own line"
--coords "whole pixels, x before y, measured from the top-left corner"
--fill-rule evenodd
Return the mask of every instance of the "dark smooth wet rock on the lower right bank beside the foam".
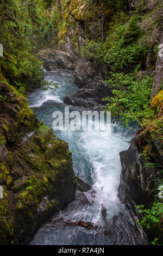
M 155 171 L 153 168 L 144 168 L 145 157 L 137 152 L 134 142 L 131 142 L 128 150 L 120 153 L 120 159 L 122 170 L 118 196 L 123 204 L 138 215 L 137 205 L 143 204 L 148 208 L 153 202 L 149 192 L 153 188 Z

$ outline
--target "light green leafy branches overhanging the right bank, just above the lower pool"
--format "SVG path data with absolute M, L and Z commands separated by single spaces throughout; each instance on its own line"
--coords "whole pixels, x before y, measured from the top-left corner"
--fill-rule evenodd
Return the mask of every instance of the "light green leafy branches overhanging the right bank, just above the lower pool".
M 154 111 L 150 101 L 152 78 L 142 78 L 137 70 L 127 75 L 113 72 L 110 75 L 107 82 L 113 88 L 113 96 L 105 97 L 103 101 L 108 101 L 104 109 L 111 111 L 112 118 L 121 118 L 123 127 L 128 126 L 130 120 L 142 125 L 146 119 L 153 118 Z

